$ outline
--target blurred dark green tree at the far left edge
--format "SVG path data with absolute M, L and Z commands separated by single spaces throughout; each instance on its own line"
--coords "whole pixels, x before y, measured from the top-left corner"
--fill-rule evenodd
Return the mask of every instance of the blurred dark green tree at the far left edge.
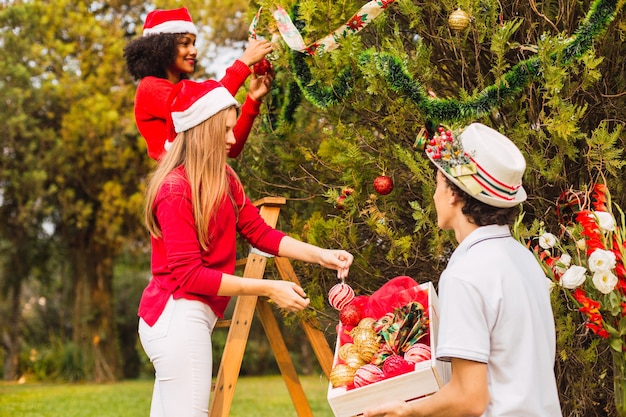
M 45 185 L 48 175 L 40 161 L 51 147 L 54 132 L 46 114 L 46 89 L 32 88 L 33 82 L 39 83 L 44 77 L 45 67 L 35 65 L 30 54 L 25 53 L 34 49 L 29 37 L 23 35 L 31 27 L 24 25 L 22 31 L 15 31 L 16 22 L 33 17 L 23 9 L 5 10 L 0 15 L 4 55 L 0 63 L 0 277 L 2 298 L 6 300 L 2 303 L 1 327 L 5 350 L 3 377 L 8 380 L 16 378 L 20 371 L 23 283 L 37 275 L 45 281 L 52 243 L 43 227 L 53 209 Z

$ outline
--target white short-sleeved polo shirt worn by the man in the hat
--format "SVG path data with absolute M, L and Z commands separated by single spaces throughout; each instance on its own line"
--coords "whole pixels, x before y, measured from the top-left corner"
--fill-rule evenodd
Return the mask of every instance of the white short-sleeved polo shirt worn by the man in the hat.
M 437 357 L 486 363 L 484 417 L 561 417 L 548 281 L 508 226 L 473 231 L 439 280 Z

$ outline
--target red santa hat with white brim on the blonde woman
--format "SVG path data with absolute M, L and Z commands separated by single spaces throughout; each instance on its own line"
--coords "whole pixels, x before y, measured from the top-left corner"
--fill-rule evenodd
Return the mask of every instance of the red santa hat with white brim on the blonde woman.
M 175 133 L 199 125 L 220 111 L 239 103 L 218 81 L 179 81 L 169 98 L 171 123 Z M 167 147 L 167 145 L 166 145 Z

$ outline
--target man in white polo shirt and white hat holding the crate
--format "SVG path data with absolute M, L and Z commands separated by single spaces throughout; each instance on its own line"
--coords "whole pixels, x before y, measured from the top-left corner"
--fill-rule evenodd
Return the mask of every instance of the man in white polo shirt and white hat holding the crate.
M 426 149 L 438 168 L 437 224 L 459 246 L 439 280 L 437 357 L 452 362 L 435 394 L 365 417 L 561 417 L 547 279 L 509 226 L 526 200 L 526 162 L 507 137 L 479 123 Z

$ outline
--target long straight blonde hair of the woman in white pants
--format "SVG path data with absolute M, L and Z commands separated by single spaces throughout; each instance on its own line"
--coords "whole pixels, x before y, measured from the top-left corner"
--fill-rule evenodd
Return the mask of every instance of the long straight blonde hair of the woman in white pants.
M 148 179 L 144 219 L 150 233 L 160 238 L 161 228 L 154 214 L 154 200 L 167 175 L 184 166 L 191 187 L 191 204 L 198 241 L 206 250 L 212 239 L 209 230 L 211 220 L 217 215 L 219 204 L 225 196 L 232 201 L 229 189 L 229 172 L 226 166 L 226 122 L 228 112 L 224 109 L 199 125 L 178 134 L 172 148 L 165 154 L 159 166 Z M 239 179 L 234 175 L 239 184 Z M 233 204 L 234 205 L 234 204 Z M 237 209 L 236 205 L 234 205 Z

